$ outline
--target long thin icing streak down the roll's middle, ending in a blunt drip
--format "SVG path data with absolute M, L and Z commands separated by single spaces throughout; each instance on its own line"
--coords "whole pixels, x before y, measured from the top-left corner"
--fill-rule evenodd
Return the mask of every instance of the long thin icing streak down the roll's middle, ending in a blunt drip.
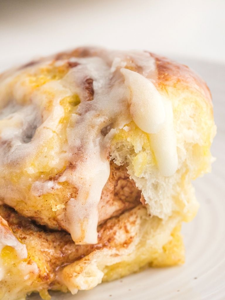
M 66 80 L 80 86 L 83 76 L 90 76 L 94 80 L 95 97 L 88 103 L 81 102 L 77 114 L 71 118 L 76 131 L 82 132 L 78 136 L 71 131 L 67 133 L 71 152 L 79 152 L 79 164 L 76 172 L 66 170 L 60 181 L 66 180 L 78 188 L 76 199 L 71 198 L 67 203 L 67 229 L 77 244 L 91 244 L 97 242 L 98 202 L 110 174 L 107 139 L 101 134 L 101 129 L 112 120 L 116 128 L 123 127 L 131 118 L 125 114 L 128 103 L 121 78 L 118 77 L 109 88 L 110 68 L 101 58 L 80 59 L 79 62 L 83 63 L 77 66 L 80 72 L 71 70 Z

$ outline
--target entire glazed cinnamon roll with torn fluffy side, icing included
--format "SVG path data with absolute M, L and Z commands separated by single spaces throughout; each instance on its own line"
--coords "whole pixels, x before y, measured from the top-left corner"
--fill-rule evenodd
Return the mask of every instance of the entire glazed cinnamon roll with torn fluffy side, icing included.
M 205 82 L 146 51 L 78 48 L 3 73 L 0 299 L 182 263 L 215 131 Z

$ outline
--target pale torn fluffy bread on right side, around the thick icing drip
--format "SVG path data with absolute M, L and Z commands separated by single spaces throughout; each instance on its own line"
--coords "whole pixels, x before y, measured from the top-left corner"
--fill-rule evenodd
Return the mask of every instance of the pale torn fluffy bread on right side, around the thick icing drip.
M 182 82 L 179 77 L 172 79 L 172 83 L 158 82 L 158 91 L 162 97 L 169 98 L 173 106 L 178 156 L 176 173 L 162 176 L 153 145 L 154 134 L 141 131 L 134 122 L 117 131 L 111 157 L 116 164 L 127 166 L 129 175 L 142 191 L 150 214 L 166 219 L 177 212 L 183 220 L 190 221 L 199 206 L 191 181 L 211 171 L 210 146 L 216 127 L 211 103 L 202 91 L 189 86 L 189 82 Z

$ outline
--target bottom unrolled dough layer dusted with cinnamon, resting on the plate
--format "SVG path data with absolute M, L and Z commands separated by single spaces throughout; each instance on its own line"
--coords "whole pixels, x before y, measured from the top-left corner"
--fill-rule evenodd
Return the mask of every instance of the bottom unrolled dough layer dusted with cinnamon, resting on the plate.
M 25 299 L 32 291 L 47 300 L 48 289 L 76 293 L 148 264 L 184 262 L 180 217 L 174 215 L 164 222 L 148 216 L 140 205 L 101 225 L 96 245 L 75 245 L 69 234 L 45 231 L 5 206 L 0 206 L 0 214 L 28 250 L 25 259 L 18 257 L 16 247 L 1 250 L 1 268 L 5 271 L 0 282 L 2 300 Z

